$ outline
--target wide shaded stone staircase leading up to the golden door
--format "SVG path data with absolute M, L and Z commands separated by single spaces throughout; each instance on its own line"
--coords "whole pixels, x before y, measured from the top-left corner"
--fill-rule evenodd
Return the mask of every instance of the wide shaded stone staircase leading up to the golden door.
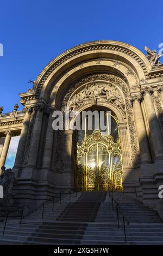
M 84 192 L 68 195 L 61 205 L 52 203 L 38 209 L 18 225 L 9 219 L 0 245 L 163 245 L 163 222 L 155 211 L 123 193 L 113 193 L 130 224 L 126 223 L 127 242 L 124 241 L 122 216 L 117 227 L 117 212 L 110 203 L 109 193 Z M 0 223 L 0 233 L 4 223 Z

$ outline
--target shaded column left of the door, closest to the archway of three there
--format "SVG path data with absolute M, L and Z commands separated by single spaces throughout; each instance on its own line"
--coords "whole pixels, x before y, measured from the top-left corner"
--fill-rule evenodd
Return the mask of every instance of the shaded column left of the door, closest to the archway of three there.
M 46 141 L 45 141 L 45 148 L 44 148 L 44 152 L 43 152 L 43 163 L 42 163 L 42 168 L 47 168 L 47 169 L 49 169 L 51 167 L 53 134 L 54 134 L 54 130 L 52 128 L 52 123 L 53 123 L 52 111 L 50 111 L 49 116 L 48 116 Z

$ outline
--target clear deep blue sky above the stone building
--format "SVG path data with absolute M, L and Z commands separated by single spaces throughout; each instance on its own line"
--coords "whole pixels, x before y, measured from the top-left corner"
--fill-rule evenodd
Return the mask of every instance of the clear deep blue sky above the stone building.
M 18 93 L 32 87 L 28 80 L 35 80 L 49 61 L 70 47 L 117 40 L 143 51 L 145 45 L 159 50 L 163 43 L 161 1 L 1 0 L 0 9 L 4 112 L 12 111 Z

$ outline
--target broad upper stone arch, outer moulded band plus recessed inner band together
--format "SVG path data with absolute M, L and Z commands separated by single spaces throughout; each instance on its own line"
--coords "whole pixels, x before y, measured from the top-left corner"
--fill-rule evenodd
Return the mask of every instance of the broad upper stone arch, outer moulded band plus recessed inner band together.
M 96 62 L 94 64 L 96 68 L 107 66 L 117 72 L 120 69 L 119 71 L 129 81 L 130 87 L 139 87 L 140 81 L 149 78 L 152 68 L 145 55 L 131 45 L 109 40 L 92 41 L 65 51 L 47 64 L 37 76 L 33 88 L 29 90 L 29 98 L 44 99 L 46 102 L 49 91 L 53 87 L 58 90 L 64 80 L 66 82 L 67 79 L 70 79 L 69 73 L 72 73 L 72 69 L 78 71 L 80 75 L 85 72 L 86 66 L 88 63 L 90 66 L 92 61 Z M 105 61 L 108 63 L 102 63 Z M 135 78 L 137 81 L 133 84 L 132 81 L 135 81 Z

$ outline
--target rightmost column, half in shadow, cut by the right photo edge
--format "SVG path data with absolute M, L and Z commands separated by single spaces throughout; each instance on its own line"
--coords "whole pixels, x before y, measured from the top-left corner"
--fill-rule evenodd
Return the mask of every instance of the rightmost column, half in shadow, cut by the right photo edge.
M 145 90 L 142 90 L 142 95 L 143 95 L 146 110 L 147 110 L 146 112 L 147 112 L 147 118 L 148 118 L 155 158 L 163 158 L 163 136 L 162 136 L 158 117 L 156 116 L 151 93 L 153 93 L 153 90 L 151 87 L 148 87 Z

